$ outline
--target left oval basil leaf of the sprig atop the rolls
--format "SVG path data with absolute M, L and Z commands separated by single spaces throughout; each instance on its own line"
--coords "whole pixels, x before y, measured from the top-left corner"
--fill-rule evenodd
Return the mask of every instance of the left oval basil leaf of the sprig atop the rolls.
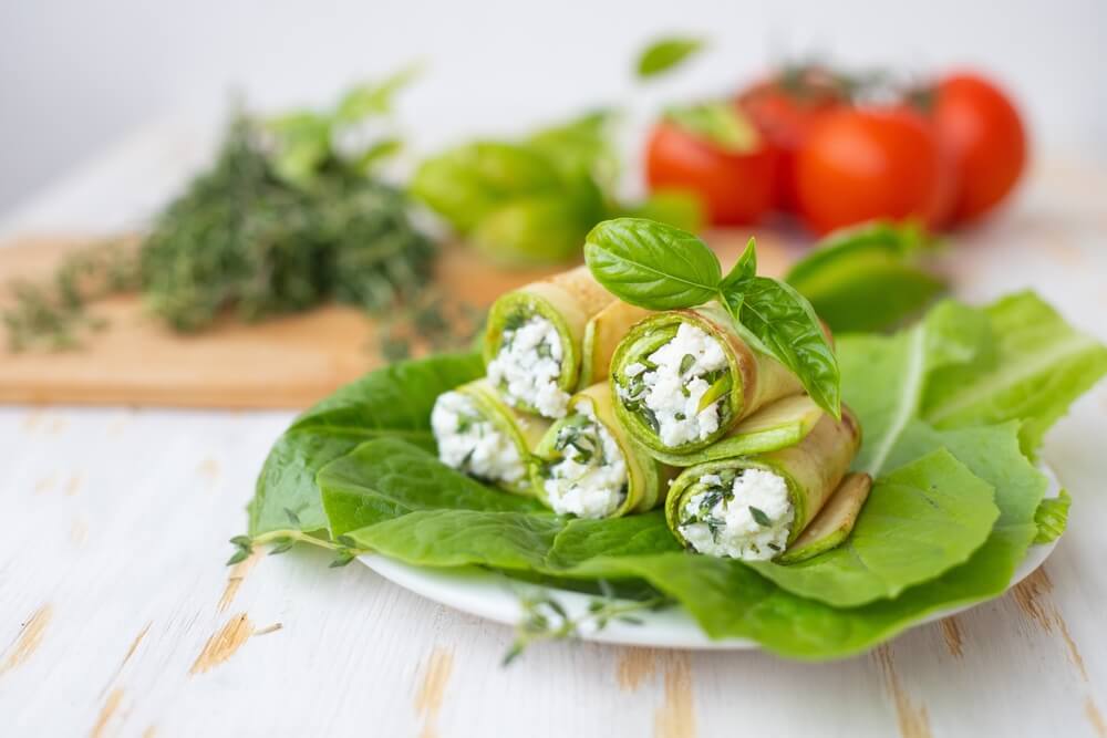
M 653 220 L 604 220 L 584 240 L 592 276 L 623 302 L 694 308 L 718 297 L 718 258 L 692 233 Z

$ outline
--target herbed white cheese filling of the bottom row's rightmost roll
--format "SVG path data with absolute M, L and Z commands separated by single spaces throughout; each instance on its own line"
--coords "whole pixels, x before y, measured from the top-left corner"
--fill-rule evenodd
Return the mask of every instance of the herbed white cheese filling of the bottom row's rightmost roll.
M 697 491 L 681 510 L 681 536 L 695 551 L 745 561 L 784 551 L 796 511 L 784 479 L 764 469 L 728 470 L 700 477 Z

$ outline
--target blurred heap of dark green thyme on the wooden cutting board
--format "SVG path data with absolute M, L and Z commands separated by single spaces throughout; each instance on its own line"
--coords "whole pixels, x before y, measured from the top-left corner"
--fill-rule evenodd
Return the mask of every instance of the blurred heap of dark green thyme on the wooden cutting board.
M 252 322 L 335 300 L 390 316 L 380 346 L 390 358 L 411 353 L 408 336 L 455 347 L 456 321 L 446 314 L 477 319 L 426 297 L 436 247 L 412 222 L 405 193 L 373 175 L 399 142 L 339 150 L 351 128 L 387 112 L 408 77 L 355 87 L 324 112 L 236 116 L 211 168 L 154 219 L 137 249 L 80 251 L 51 282 L 12 285 L 2 313 L 10 349 L 79 346 L 102 328 L 87 303 L 133 291 L 180 332 L 227 313 Z

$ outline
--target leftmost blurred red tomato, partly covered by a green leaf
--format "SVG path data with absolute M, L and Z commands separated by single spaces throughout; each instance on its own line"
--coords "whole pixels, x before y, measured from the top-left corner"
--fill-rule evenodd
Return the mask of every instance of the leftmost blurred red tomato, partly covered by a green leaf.
M 695 194 L 715 226 L 749 224 L 768 212 L 776 173 L 776 153 L 767 146 L 733 154 L 664 121 L 645 147 L 650 188 Z

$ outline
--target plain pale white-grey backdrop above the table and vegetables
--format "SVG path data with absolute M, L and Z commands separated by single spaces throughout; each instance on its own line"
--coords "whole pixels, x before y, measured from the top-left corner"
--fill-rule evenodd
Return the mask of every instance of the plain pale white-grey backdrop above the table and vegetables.
M 674 30 L 715 45 L 658 98 L 725 91 L 810 52 L 919 71 L 975 64 L 1023 101 L 1039 150 L 1107 152 L 1103 0 L 4 0 L 0 212 L 142 123 L 210 119 L 234 90 L 266 107 L 320 103 L 424 60 L 401 110 L 418 150 L 625 102 L 635 51 Z

